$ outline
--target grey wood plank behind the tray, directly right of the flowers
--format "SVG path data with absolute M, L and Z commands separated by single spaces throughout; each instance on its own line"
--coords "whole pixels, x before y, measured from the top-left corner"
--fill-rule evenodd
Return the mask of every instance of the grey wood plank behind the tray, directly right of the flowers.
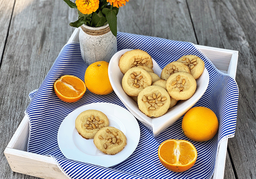
M 117 30 L 197 43 L 185 0 L 131 0 L 120 7 Z

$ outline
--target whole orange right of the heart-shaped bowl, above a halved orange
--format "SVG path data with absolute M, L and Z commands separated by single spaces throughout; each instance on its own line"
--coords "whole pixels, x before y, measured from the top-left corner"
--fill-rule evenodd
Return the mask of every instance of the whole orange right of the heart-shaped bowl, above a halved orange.
M 212 139 L 218 127 L 215 113 L 206 107 L 191 108 L 182 119 L 182 130 L 193 141 L 203 142 Z

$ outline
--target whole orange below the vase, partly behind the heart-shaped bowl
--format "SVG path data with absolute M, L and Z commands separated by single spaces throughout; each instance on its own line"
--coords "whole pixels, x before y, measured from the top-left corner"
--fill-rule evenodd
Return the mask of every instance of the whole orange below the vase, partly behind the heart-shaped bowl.
M 109 63 L 98 61 L 90 64 L 84 75 L 88 90 L 97 95 L 107 95 L 113 91 L 108 74 Z

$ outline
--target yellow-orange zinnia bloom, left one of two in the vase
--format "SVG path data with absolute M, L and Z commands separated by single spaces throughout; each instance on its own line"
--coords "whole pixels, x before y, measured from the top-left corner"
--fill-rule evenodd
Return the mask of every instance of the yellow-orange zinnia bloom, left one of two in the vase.
M 91 14 L 99 8 L 99 0 L 76 0 L 77 9 L 83 14 Z

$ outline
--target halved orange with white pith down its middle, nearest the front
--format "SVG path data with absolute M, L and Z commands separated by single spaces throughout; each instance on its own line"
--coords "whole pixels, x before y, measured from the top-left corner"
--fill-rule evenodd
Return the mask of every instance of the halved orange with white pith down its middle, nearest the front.
M 158 158 L 167 169 L 184 172 L 196 163 L 197 150 L 189 141 L 169 139 L 158 147 Z

